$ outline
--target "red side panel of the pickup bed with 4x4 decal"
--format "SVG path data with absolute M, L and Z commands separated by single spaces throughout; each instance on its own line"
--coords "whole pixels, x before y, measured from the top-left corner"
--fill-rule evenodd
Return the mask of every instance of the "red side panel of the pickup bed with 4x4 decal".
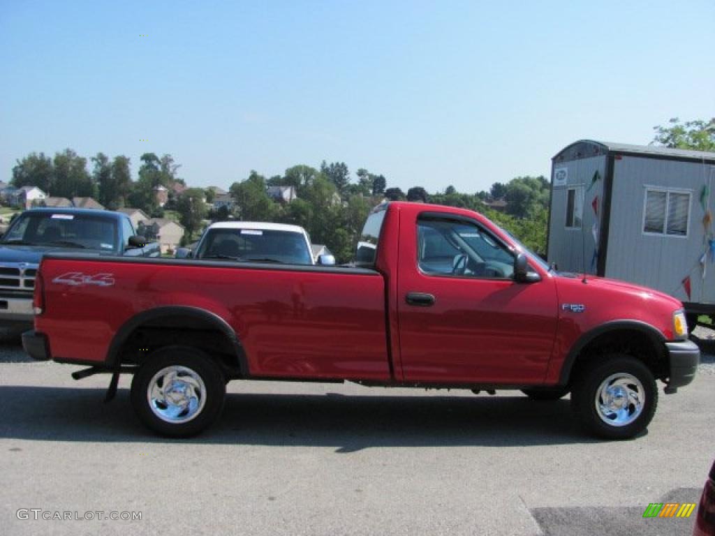
M 42 270 L 36 328 L 61 334 L 53 359 L 104 362 L 130 319 L 196 307 L 236 332 L 252 377 L 391 377 L 385 282 L 372 269 L 52 254 Z

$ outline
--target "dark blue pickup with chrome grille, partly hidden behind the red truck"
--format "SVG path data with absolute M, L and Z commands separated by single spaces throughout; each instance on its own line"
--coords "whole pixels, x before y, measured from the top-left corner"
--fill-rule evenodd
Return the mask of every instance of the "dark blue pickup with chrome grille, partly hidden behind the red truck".
M 31 209 L 0 240 L 0 336 L 32 329 L 32 289 L 45 253 L 66 251 L 159 257 L 159 244 L 137 237 L 127 214 L 92 209 Z

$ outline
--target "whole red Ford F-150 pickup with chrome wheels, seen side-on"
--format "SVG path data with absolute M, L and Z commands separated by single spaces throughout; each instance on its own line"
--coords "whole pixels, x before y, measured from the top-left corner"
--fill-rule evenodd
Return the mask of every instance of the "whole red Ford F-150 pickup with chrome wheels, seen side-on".
M 633 259 L 638 262 L 638 259 Z M 521 389 L 571 405 L 589 432 L 638 434 L 699 363 L 682 304 L 556 272 L 475 212 L 388 203 L 353 266 L 49 254 L 34 289 L 36 359 L 76 379 L 134 374 L 132 405 L 162 435 L 220 414 L 231 379 Z

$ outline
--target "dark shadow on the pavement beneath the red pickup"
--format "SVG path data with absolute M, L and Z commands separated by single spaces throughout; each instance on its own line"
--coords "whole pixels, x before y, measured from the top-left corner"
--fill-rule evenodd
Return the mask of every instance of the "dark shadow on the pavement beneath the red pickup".
M 175 442 L 134 416 L 128 389 L 0 387 L 0 437 L 70 442 Z M 647 432 L 646 432 L 647 433 Z M 196 444 L 335 447 L 528 446 L 598 442 L 584 435 L 568 399 L 524 396 L 227 395 L 222 417 Z

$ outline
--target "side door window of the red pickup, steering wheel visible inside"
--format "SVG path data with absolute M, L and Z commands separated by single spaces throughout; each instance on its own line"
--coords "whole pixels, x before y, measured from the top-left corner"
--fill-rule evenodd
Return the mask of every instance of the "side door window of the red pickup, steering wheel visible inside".
M 509 279 L 514 257 L 475 224 L 446 219 L 418 221 L 418 266 L 428 275 Z

